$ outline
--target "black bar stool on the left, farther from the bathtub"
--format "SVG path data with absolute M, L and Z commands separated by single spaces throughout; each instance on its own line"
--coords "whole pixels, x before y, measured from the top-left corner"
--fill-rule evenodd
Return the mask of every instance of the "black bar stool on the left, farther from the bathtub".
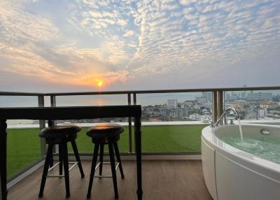
M 50 122 L 49 122 L 50 124 Z M 78 148 L 76 145 L 75 139 L 77 138 L 77 133 L 80 131 L 80 127 L 76 125 L 66 125 L 66 126 L 50 126 L 43 130 L 41 130 L 39 137 L 45 138 L 45 143 L 48 144 L 47 155 L 45 156 L 45 165 L 43 168 L 41 187 L 38 197 L 43 197 L 43 190 L 45 188 L 45 180 L 47 177 L 59 177 L 62 178 L 64 176 L 65 179 L 65 188 L 66 188 L 66 197 L 70 197 L 70 187 L 69 187 L 69 171 L 73 169 L 76 164 L 78 164 L 78 168 L 80 169 L 80 176 L 84 178 L 85 175 L 83 173 L 83 167 L 80 163 L 80 157 L 78 155 Z M 77 162 L 68 162 L 68 150 L 67 143 L 71 142 L 74 155 L 76 157 Z M 57 166 L 57 164 L 53 165 L 52 159 L 52 150 L 54 145 L 59 146 L 59 175 L 48 175 L 48 172 Z M 69 169 L 69 164 L 73 164 Z M 50 166 L 50 169 L 49 169 Z M 64 166 L 64 175 L 62 175 L 62 166 Z

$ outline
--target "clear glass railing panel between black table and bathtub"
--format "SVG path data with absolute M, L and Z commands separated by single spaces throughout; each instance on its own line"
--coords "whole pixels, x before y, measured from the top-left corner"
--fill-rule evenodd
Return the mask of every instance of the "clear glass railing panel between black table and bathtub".
M 138 94 L 143 152 L 199 152 L 212 120 L 212 93 Z

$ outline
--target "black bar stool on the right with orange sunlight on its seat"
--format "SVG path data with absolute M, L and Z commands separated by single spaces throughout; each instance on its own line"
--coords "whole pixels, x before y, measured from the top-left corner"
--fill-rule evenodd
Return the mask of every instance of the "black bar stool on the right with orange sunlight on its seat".
M 90 136 L 92 138 L 92 143 L 94 143 L 92 169 L 90 172 L 90 183 L 88 185 L 87 198 L 90 198 L 91 196 L 93 178 L 111 177 L 113 178 L 115 199 L 118 199 L 118 185 L 117 185 L 117 177 L 116 177 L 116 170 L 118 169 L 118 167 L 120 169 L 121 178 L 125 178 L 125 176 L 123 175 L 123 166 L 120 161 L 120 152 L 118 150 L 118 143 L 117 143 L 117 141 L 120 140 L 121 133 L 123 133 L 123 127 L 120 127 L 119 124 L 114 124 L 114 123 L 98 124 L 97 126 L 87 130 L 87 136 Z M 107 164 L 103 162 L 104 145 L 109 146 L 112 176 L 102 176 L 102 166 L 103 164 Z M 100 147 L 99 164 L 97 164 L 97 155 L 98 155 L 99 147 Z M 118 161 L 117 166 L 115 166 L 114 150 L 116 152 L 116 157 Z M 94 175 L 95 170 L 98 167 L 99 167 L 99 175 Z

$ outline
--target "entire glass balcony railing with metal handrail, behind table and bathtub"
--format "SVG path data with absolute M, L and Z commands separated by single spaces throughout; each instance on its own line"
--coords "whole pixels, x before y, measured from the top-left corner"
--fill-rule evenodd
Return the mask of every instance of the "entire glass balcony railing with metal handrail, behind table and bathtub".
M 140 104 L 142 106 L 142 150 L 145 154 L 200 154 L 203 127 L 216 120 L 224 108 L 239 110 L 244 122 L 280 124 L 280 87 L 225 88 L 198 90 L 154 90 L 124 92 L 83 92 L 27 94 L 0 92 L 0 107 L 99 106 Z M 228 115 L 228 117 L 232 117 Z M 93 145 L 85 134 L 92 123 L 118 122 L 125 127 L 119 141 L 120 152 L 134 152 L 133 119 L 73 120 L 83 124 L 78 134 L 78 150 L 92 155 Z M 43 121 L 8 122 L 8 178 L 19 174 L 45 154 L 38 138 Z M 71 146 L 69 145 L 69 152 Z M 105 152 L 108 150 L 105 149 Z

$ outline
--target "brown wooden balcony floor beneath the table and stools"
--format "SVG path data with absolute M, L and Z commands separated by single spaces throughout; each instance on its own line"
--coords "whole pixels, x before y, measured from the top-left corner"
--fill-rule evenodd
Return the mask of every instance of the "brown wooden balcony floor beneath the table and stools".
M 83 162 L 85 171 L 83 179 L 80 178 L 78 167 L 71 171 L 69 199 L 86 199 L 90 166 L 90 162 Z M 109 167 L 109 165 L 104 166 L 104 173 L 111 173 Z M 117 173 L 119 199 L 137 199 L 136 163 L 125 161 L 123 169 L 125 179 L 120 178 L 119 171 Z M 212 199 L 204 184 L 201 161 L 144 161 L 142 170 L 143 199 Z M 42 171 L 42 168 L 38 169 L 10 188 L 8 199 L 38 199 Z M 41 199 L 65 199 L 64 178 L 48 178 L 44 197 Z M 114 199 L 112 179 L 94 178 L 91 199 Z

